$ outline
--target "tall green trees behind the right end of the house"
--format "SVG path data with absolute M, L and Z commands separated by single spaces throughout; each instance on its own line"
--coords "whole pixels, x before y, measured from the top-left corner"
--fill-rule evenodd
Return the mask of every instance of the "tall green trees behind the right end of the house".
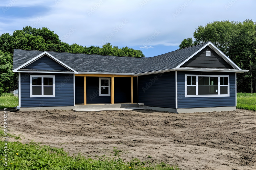
M 215 21 L 205 26 L 198 26 L 193 38 L 185 38 L 179 48 L 185 48 L 211 41 L 241 69 L 247 73 L 237 74 L 237 91 L 256 93 L 256 23 L 252 20 L 243 22 Z

